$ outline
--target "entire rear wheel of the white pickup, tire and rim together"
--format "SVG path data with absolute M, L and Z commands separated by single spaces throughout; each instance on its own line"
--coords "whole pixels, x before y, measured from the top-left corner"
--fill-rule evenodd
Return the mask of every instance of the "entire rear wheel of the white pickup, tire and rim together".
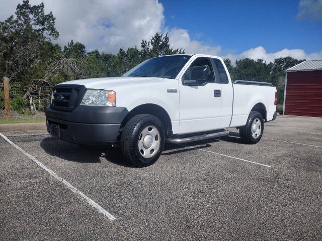
M 261 140 L 263 131 L 264 121 L 262 114 L 258 111 L 251 111 L 246 125 L 239 128 L 239 136 L 247 144 L 256 144 Z

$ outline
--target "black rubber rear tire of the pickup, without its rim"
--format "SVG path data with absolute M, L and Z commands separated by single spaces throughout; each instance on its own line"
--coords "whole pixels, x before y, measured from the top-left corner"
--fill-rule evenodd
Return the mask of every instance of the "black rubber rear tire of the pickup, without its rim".
M 253 126 L 253 122 L 254 122 L 254 120 L 256 118 L 258 118 L 259 121 L 261 122 L 261 132 L 256 138 L 254 138 L 253 133 L 252 133 L 252 126 Z M 263 136 L 263 132 L 264 132 L 263 116 L 258 111 L 251 111 L 250 115 L 248 116 L 246 125 L 244 127 L 239 128 L 240 139 L 244 143 L 247 143 L 247 144 L 256 144 L 256 143 L 258 143 L 261 140 L 262 136 Z

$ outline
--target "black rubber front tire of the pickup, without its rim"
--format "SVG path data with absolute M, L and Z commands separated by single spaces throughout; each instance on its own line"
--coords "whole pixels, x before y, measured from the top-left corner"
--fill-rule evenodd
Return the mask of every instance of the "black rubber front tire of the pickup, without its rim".
M 150 158 L 144 158 L 139 151 L 139 135 L 148 126 L 157 129 L 160 136 L 159 148 Z M 136 167 L 152 165 L 161 155 L 165 145 L 165 129 L 160 120 L 151 114 L 138 114 L 125 125 L 121 135 L 121 150 L 123 156 Z

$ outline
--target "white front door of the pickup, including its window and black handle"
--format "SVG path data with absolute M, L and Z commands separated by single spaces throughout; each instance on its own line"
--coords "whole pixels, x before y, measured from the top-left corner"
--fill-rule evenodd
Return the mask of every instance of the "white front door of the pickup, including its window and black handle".
M 187 83 L 189 80 L 192 81 Z M 221 117 L 221 85 L 215 82 L 210 59 L 196 58 L 179 78 L 179 88 L 179 133 L 218 129 Z

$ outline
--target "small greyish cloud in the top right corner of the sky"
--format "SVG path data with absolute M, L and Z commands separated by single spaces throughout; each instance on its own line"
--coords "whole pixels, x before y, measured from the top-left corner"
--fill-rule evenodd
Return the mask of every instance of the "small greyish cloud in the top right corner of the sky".
M 298 20 L 309 18 L 312 21 L 322 19 L 322 0 L 301 0 L 298 5 Z

